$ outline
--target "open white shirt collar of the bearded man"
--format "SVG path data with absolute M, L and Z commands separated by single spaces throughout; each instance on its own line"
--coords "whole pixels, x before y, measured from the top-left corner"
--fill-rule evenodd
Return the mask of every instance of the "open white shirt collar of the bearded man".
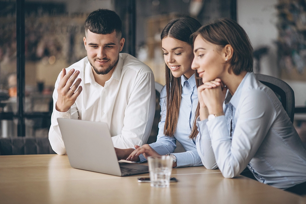
M 122 57 L 119 55 L 118 63 L 110 79 L 114 78 L 119 81 L 121 78 L 122 67 L 123 67 L 123 60 L 122 60 Z M 91 83 L 93 85 L 97 84 L 95 82 L 95 77 L 94 77 L 94 74 L 92 73 L 91 64 L 89 62 L 86 64 L 85 71 L 84 71 L 84 83 Z

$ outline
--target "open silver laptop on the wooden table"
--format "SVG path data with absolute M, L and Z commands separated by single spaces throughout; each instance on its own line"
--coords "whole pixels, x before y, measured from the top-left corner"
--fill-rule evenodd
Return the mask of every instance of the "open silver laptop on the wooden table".
M 57 120 L 71 167 L 115 176 L 149 172 L 146 165 L 118 161 L 106 123 Z

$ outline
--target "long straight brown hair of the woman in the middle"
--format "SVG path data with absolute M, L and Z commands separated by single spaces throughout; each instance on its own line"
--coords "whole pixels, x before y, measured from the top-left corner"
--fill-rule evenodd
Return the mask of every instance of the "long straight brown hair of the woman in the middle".
M 188 43 L 193 47 L 193 41 L 190 38 L 192 33 L 196 32 L 201 27 L 201 24 L 196 19 L 185 16 L 172 20 L 163 29 L 160 38 L 171 37 Z M 202 84 L 201 79 L 196 79 L 196 86 Z M 167 94 L 167 113 L 164 127 L 164 135 L 173 136 L 177 128 L 178 114 L 181 106 L 181 77 L 174 77 L 170 69 L 166 65 L 166 94 Z M 198 134 L 196 127 L 196 118 L 199 116 L 200 106 L 196 108 L 196 114 L 189 138 L 193 139 Z

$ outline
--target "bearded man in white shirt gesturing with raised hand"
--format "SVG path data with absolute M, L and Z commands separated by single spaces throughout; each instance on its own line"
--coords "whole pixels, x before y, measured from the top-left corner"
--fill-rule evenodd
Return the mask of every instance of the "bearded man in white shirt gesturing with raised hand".
M 63 69 L 55 83 L 49 140 L 57 154 L 66 153 L 59 117 L 106 122 L 117 148 L 147 142 L 155 113 L 154 76 L 135 57 L 119 54 L 125 42 L 121 27 L 120 17 L 108 9 L 87 17 L 87 57 Z

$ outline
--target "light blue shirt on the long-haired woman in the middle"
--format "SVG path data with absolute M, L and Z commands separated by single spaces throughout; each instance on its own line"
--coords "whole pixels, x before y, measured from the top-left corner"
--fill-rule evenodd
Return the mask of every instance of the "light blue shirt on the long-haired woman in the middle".
M 159 132 L 155 143 L 149 144 L 158 154 L 165 155 L 173 153 L 176 148 L 176 140 L 185 148 L 186 152 L 174 153 L 177 158 L 177 167 L 203 165 L 196 150 L 195 141 L 189 138 L 195 120 L 196 108 L 198 106 L 198 94 L 194 74 L 187 80 L 181 76 L 182 99 L 177 121 L 177 128 L 173 137 L 164 135 L 166 120 L 166 86 L 160 93 L 161 121 Z M 141 154 L 140 161 L 146 160 Z

